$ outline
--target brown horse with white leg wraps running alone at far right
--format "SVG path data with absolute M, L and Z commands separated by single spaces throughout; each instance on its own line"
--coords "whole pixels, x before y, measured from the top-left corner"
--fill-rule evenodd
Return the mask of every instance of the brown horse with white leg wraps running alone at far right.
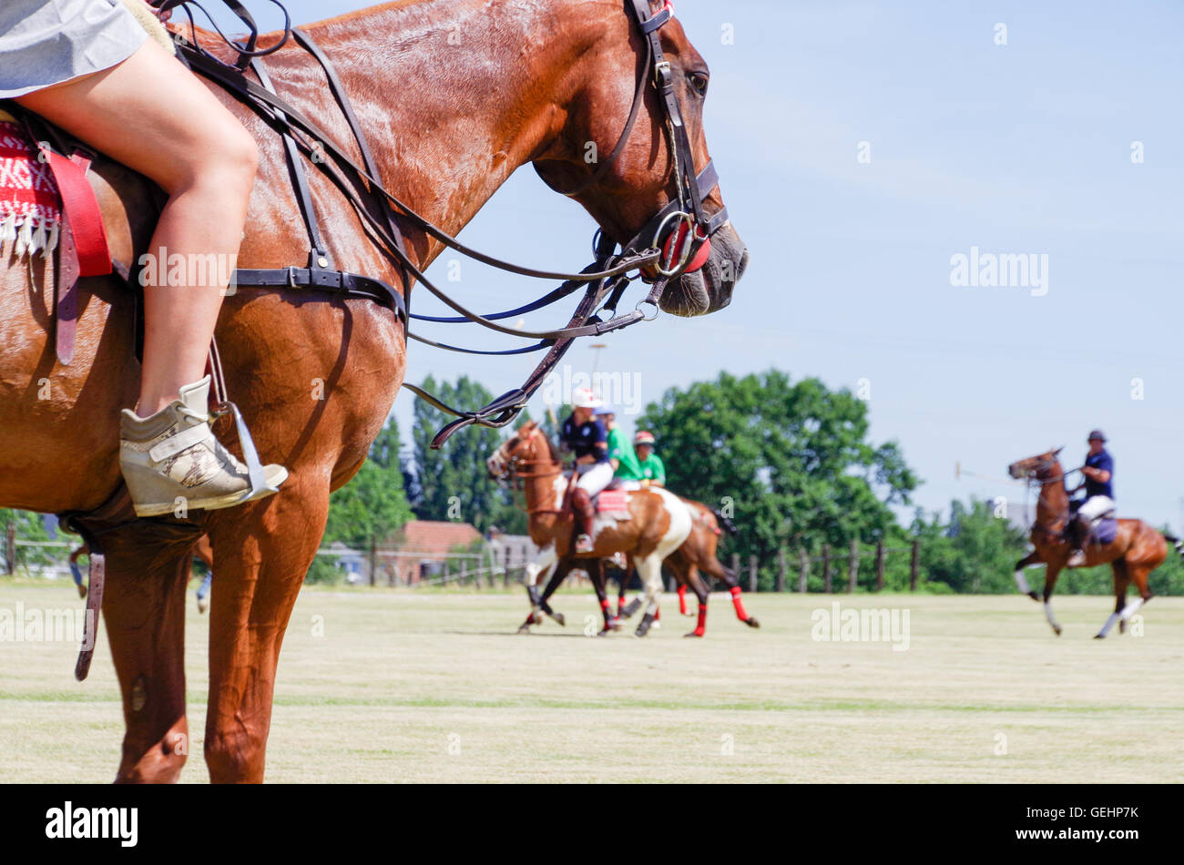
M 1031 531 L 1031 542 L 1036 549 L 1016 562 L 1016 586 L 1034 601 L 1040 601 L 1041 596 L 1029 588 L 1023 569 L 1044 563 L 1044 615 L 1057 637 L 1061 635 L 1061 625 L 1053 615 L 1053 589 L 1072 553 L 1064 537 L 1064 529 L 1069 522 L 1069 491 L 1057 459 L 1062 450 L 1060 447 L 1048 450 L 1008 466 L 1008 473 L 1012 478 L 1027 479 L 1040 489 L 1036 522 Z M 1119 624 L 1119 632 L 1124 632 L 1126 621 L 1151 600 L 1147 575 L 1164 563 L 1167 557 L 1169 540 L 1175 543 L 1176 550 L 1184 555 L 1184 542 L 1153 529 L 1141 519 L 1119 519 L 1118 534 L 1113 541 L 1102 544 L 1090 538 L 1085 543 L 1082 551 L 1086 554 L 1086 561 L 1077 567 L 1092 568 L 1108 562 L 1114 573 L 1114 612 L 1095 634 L 1096 639 L 1105 639 L 1114 622 Z M 1127 603 L 1126 590 L 1132 582 L 1139 596 Z

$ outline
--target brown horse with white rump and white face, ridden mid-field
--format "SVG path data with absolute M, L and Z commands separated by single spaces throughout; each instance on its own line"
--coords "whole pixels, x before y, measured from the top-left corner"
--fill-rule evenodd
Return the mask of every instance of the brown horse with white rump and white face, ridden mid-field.
M 522 482 L 528 532 L 539 547 L 538 557 L 527 566 L 526 585 L 532 609 L 525 626 L 534 621 L 539 576 L 549 573 L 559 582 L 573 567 L 584 568 L 597 587 L 597 596 L 605 617 L 605 630 L 613 630 L 607 599 L 604 594 L 601 560 L 625 553 L 637 567 L 645 587 L 645 614 L 635 632 L 644 637 L 657 613 L 657 596 L 662 592 L 662 560 L 687 540 L 691 529 L 690 511 L 682 501 L 661 488 L 635 490 L 629 493 L 629 518 L 597 515 L 592 524 L 592 549 L 575 553 L 574 519 L 568 499 L 573 484 L 564 475 L 564 464 L 551 438 L 535 421 L 527 421 L 506 439 L 487 460 L 491 477 L 516 478 Z M 555 583 L 558 586 L 558 582 Z M 521 630 L 521 628 L 520 628 Z

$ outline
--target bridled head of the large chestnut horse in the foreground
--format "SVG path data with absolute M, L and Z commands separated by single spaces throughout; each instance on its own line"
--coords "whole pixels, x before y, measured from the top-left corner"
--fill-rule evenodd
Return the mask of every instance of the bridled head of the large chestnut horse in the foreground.
M 727 220 L 710 167 L 703 134 L 710 75 L 669 0 L 624 6 L 624 15 L 620 0 L 594 7 L 586 52 L 593 64 L 559 108 L 566 114 L 561 131 L 533 163 L 543 182 L 579 201 L 609 239 L 633 251 L 664 251 L 670 278 L 658 304 L 663 310 L 714 312 L 731 303 L 748 251 Z M 664 19 L 654 31 L 661 59 L 638 22 L 645 15 Z M 652 282 L 658 271 L 643 276 Z

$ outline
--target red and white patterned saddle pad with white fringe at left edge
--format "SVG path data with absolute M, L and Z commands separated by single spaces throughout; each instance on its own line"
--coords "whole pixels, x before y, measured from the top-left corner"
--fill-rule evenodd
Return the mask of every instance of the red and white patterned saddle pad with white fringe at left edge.
M 60 224 L 50 163 L 38 159 L 24 127 L 0 120 L 0 251 L 18 258 L 49 254 L 58 245 Z

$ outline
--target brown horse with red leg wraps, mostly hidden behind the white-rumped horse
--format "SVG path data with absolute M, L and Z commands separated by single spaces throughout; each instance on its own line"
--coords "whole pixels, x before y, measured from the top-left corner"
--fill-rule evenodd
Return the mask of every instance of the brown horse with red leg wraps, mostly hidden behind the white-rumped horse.
M 735 609 L 736 618 L 742 621 L 748 627 L 760 627 L 760 622 L 757 617 L 748 615 L 745 609 L 744 601 L 740 599 L 740 581 L 736 579 L 735 573 L 726 567 L 718 557 L 716 549 L 720 542 L 720 523 L 719 517 L 714 510 L 708 508 L 702 502 L 695 502 L 689 498 L 678 497 L 680 501 L 687 506 L 687 510 L 691 515 L 691 528 L 690 534 L 687 535 L 687 540 L 667 556 L 665 566 L 674 575 L 675 581 L 678 585 L 678 606 L 683 614 L 687 613 L 686 608 L 686 592 L 689 588 L 695 593 L 695 598 L 699 601 L 699 621 L 695 628 L 684 637 L 702 637 L 707 630 L 707 601 L 710 596 L 710 579 L 720 580 L 728 587 L 728 593 L 732 595 L 732 606 Z M 605 560 L 606 562 L 609 560 Z M 571 562 L 565 562 L 567 564 L 567 570 L 572 567 L 578 567 Z M 704 581 L 700 575 L 703 572 L 708 581 Z M 628 562 L 626 567 L 623 569 L 620 581 L 620 599 L 623 601 L 625 596 L 625 585 L 629 582 L 630 575 L 633 573 L 632 562 Z M 547 605 L 548 599 L 554 594 L 555 589 L 562 583 L 566 576 L 566 570 L 556 566 L 555 570 L 552 573 L 547 587 L 542 592 L 541 605 Z M 607 598 L 604 594 L 604 580 L 597 582 L 593 577 L 592 585 L 597 588 L 597 600 L 600 602 L 603 609 L 607 608 Z M 642 605 L 642 598 L 635 598 L 628 606 L 622 601 L 617 605 L 617 618 L 628 619 L 637 612 L 638 607 Z M 562 624 L 561 619 L 556 618 L 548 606 L 541 607 L 543 612 L 556 621 Z

